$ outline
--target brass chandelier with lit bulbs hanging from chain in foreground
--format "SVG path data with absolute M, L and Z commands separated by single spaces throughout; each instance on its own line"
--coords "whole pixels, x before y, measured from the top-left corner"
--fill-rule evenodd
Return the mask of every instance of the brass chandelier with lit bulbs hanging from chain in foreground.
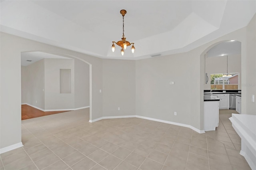
M 120 14 L 122 14 L 123 16 L 123 37 L 121 38 L 122 40 L 118 41 L 118 42 L 112 42 L 112 51 L 114 52 L 115 51 L 115 45 L 114 43 L 116 43 L 116 45 L 119 45 L 120 47 L 122 47 L 121 49 L 121 54 L 124 55 L 124 50 L 126 49 L 127 46 L 131 45 L 132 44 L 132 53 L 134 53 L 134 43 L 130 43 L 128 41 L 126 41 L 126 38 L 124 37 L 124 15 L 126 14 L 126 10 L 120 10 Z

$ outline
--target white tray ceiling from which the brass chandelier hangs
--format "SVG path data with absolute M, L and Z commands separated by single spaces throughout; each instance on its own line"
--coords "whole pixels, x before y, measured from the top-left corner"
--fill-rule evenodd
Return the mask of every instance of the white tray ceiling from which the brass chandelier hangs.
M 112 41 L 134 42 L 120 54 Z M 143 59 L 189 51 L 242 28 L 255 0 L 1 1 L 1 31 L 101 58 Z

